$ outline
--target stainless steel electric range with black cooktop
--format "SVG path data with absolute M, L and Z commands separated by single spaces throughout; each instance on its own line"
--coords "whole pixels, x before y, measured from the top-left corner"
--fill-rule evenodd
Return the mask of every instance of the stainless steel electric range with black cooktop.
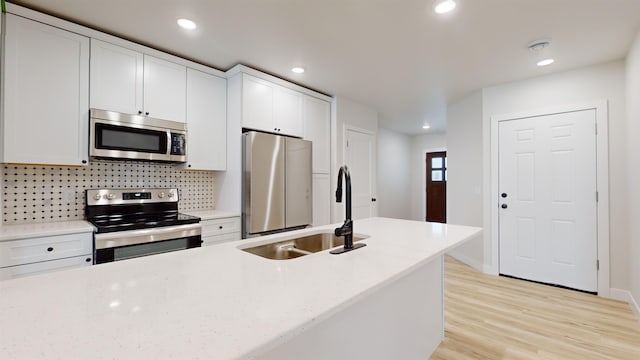
M 178 212 L 178 189 L 86 190 L 94 263 L 200 247 L 200 218 Z

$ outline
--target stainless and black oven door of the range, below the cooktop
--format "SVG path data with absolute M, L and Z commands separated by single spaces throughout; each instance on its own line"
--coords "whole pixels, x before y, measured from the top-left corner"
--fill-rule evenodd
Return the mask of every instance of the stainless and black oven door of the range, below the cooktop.
M 202 246 L 200 224 L 95 234 L 95 264 Z

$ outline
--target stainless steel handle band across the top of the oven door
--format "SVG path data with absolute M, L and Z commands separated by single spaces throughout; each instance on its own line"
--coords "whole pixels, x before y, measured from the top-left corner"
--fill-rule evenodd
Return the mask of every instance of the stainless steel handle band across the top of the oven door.
M 202 234 L 200 224 L 161 226 L 148 229 L 114 231 L 95 234 L 97 249 L 151 243 L 164 240 L 180 239 Z

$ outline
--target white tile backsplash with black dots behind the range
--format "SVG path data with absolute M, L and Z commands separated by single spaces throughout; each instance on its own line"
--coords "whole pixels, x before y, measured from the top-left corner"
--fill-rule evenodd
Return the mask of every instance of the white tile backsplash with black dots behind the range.
M 84 218 L 86 189 L 175 187 L 180 211 L 214 207 L 215 173 L 186 171 L 173 164 L 91 161 L 86 167 L 3 164 L 4 224 Z

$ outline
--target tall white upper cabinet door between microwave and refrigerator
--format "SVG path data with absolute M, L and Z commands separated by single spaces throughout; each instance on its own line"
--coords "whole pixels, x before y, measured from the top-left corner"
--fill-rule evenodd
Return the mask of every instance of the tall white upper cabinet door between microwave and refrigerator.
M 187 168 L 227 168 L 227 80 L 187 69 Z

